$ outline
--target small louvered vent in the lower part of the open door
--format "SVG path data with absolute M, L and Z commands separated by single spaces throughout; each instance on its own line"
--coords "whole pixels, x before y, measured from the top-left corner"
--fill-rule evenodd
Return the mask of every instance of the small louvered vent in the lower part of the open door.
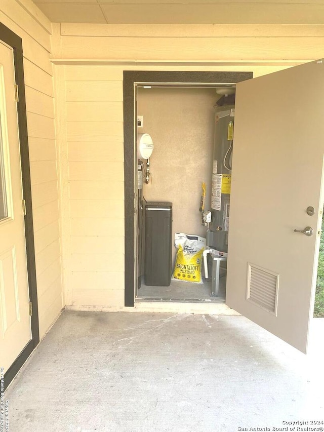
M 248 264 L 247 300 L 277 316 L 279 274 Z

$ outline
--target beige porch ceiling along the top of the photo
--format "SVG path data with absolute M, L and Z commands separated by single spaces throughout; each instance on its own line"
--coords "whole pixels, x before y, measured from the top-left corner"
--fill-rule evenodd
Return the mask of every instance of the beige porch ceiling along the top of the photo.
M 52 22 L 324 24 L 324 0 L 33 0 Z

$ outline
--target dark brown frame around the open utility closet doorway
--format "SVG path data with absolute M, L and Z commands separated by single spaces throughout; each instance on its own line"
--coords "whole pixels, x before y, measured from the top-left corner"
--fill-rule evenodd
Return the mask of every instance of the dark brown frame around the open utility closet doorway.
M 135 297 L 136 84 L 179 83 L 195 87 L 204 84 L 235 84 L 252 77 L 253 72 L 124 71 L 125 306 L 133 307 Z

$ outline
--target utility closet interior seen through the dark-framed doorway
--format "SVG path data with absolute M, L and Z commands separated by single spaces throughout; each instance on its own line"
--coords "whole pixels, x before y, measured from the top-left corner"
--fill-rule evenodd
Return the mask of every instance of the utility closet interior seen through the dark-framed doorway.
M 225 252 L 219 260 L 219 274 L 212 256 L 207 256 L 209 271 L 204 270 L 203 249 L 211 237 L 207 231 L 212 228 L 206 212 L 211 211 L 214 147 L 219 144 L 215 141 L 215 133 L 220 133 L 215 130 L 218 103 L 233 106 L 235 85 L 151 84 L 137 85 L 136 89 L 136 301 L 225 303 L 227 244 L 219 248 L 221 255 Z M 228 111 L 228 123 L 234 121 L 232 114 L 230 117 Z M 223 156 L 231 144 L 227 141 Z M 147 146 L 153 147 L 148 159 L 148 153 L 142 155 L 139 149 L 143 145 L 144 152 Z M 218 172 L 222 172 L 220 166 L 221 162 Z M 230 175 L 230 170 L 226 173 Z M 193 260 L 198 264 L 195 270 L 177 270 L 176 233 L 181 233 L 182 248 L 185 241 L 184 252 L 186 247 L 199 249 L 196 238 L 200 242 L 202 249 Z M 207 241 L 208 246 L 212 244 Z M 191 255 L 187 255 L 186 263 L 188 258 L 192 263 Z

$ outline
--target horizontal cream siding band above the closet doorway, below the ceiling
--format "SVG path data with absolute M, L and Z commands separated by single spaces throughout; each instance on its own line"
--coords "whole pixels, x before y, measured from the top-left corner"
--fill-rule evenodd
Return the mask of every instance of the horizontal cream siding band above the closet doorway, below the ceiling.
M 53 58 L 146 61 L 314 60 L 324 25 L 55 24 Z

